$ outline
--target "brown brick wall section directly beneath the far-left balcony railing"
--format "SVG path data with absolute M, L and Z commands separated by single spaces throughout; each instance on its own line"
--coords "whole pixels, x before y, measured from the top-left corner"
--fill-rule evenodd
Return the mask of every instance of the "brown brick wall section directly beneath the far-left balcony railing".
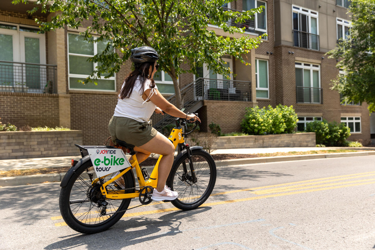
M 59 126 L 57 94 L 0 92 L 0 118 L 17 127 Z

